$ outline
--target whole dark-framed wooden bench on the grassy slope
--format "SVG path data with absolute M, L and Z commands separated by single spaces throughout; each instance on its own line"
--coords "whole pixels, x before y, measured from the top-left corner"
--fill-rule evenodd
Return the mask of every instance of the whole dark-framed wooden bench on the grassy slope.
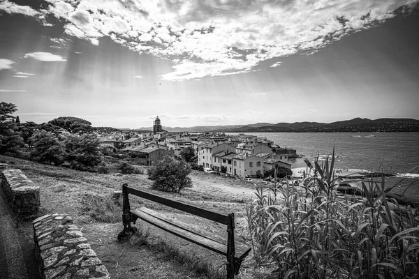
M 216 236 L 210 232 L 207 232 L 203 229 L 198 229 L 196 227 L 191 227 L 186 223 L 172 220 L 167 216 L 147 209 L 146 207 L 141 207 L 140 209 L 132 209 L 129 205 L 128 195 L 132 194 L 138 197 L 149 199 L 153 202 L 170 206 L 173 209 L 178 209 L 187 213 L 191 213 L 195 216 L 206 218 L 212 220 L 216 223 L 220 223 L 227 226 L 227 239 Z M 127 184 L 122 186 L 122 196 L 123 196 L 123 212 L 122 212 L 122 223 L 124 229 L 118 235 L 118 240 L 132 235 L 137 231 L 135 227 L 131 226 L 131 223 L 135 224 L 135 221 L 140 218 L 141 220 L 146 221 L 156 227 L 164 229 L 170 234 L 175 234 L 176 236 L 191 241 L 192 243 L 203 246 L 209 250 L 217 252 L 221 255 L 227 257 L 227 278 L 234 278 L 234 275 L 239 273 L 240 265 L 244 257 L 246 257 L 251 248 L 247 246 L 242 246 L 239 243 L 234 241 L 234 229 L 235 229 L 235 220 L 234 213 L 228 214 L 228 216 L 221 215 L 206 209 L 201 209 L 197 206 L 192 206 L 190 204 L 185 204 L 183 202 L 175 202 L 171 199 L 165 197 L 159 197 L 151 193 L 147 193 L 142 190 L 128 187 Z

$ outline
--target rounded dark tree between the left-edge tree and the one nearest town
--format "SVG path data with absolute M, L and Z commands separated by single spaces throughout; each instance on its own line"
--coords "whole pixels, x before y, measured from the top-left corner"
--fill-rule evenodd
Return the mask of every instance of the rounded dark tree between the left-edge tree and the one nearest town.
M 66 151 L 64 144 L 59 138 L 45 130 L 39 130 L 29 138 L 33 149 L 31 150 L 31 159 L 40 163 L 59 165 L 64 162 Z

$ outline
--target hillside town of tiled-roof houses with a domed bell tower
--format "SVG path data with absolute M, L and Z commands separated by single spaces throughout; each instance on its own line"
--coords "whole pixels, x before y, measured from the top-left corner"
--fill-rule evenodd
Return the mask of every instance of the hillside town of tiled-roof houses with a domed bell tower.
M 226 135 L 224 133 L 170 133 L 163 130 L 159 116 L 152 132 L 122 130 L 97 133 L 99 144 L 114 151 L 131 153 L 136 163 L 151 166 L 164 156 L 179 156 L 193 148 L 197 165 L 205 172 L 222 172 L 239 177 L 261 177 L 278 167 L 291 169 L 288 158 L 295 158 L 295 149 L 274 144 L 266 137 Z

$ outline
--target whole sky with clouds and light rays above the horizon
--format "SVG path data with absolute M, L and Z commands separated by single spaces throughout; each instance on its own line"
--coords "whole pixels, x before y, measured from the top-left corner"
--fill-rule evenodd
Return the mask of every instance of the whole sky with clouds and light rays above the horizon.
M 0 100 L 93 126 L 419 119 L 419 0 L 0 0 Z

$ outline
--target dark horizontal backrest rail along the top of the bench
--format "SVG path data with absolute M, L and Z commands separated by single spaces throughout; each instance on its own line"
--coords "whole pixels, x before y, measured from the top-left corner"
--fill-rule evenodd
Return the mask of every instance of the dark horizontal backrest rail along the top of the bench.
M 179 209 L 180 211 L 191 213 L 193 215 L 200 216 L 202 218 L 206 218 L 208 220 L 212 220 L 217 223 L 221 223 L 224 225 L 230 224 L 230 218 L 228 216 L 224 216 L 219 213 L 208 211 L 207 209 L 201 209 L 200 207 L 193 206 L 191 204 L 185 204 L 183 202 L 175 202 L 171 199 L 166 199 L 165 197 L 159 197 L 157 195 L 153 195 L 151 193 L 147 193 L 142 190 L 128 187 L 127 184 L 124 184 L 122 186 L 122 193 L 124 193 L 124 191 L 126 191 L 126 194 L 133 194 L 135 196 L 142 197 L 144 199 L 149 199 L 152 202 L 158 202 L 159 204 L 170 206 L 173 209 Z

